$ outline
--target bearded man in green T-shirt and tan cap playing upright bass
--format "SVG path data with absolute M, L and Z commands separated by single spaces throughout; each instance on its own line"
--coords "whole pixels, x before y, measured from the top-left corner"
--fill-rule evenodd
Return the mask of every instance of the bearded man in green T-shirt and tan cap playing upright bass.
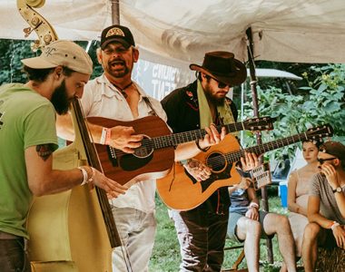
M 22 60 L 28 83 L 0 87 L 0 270 L 30 271 L 25 257 L 26 215 L 34 196 L 93 182 L 117 197 L 125 187 L 89 166 L 53 170 L 55 111 L 67 112 L 93 72 L 84 49 L 67 41 Z

